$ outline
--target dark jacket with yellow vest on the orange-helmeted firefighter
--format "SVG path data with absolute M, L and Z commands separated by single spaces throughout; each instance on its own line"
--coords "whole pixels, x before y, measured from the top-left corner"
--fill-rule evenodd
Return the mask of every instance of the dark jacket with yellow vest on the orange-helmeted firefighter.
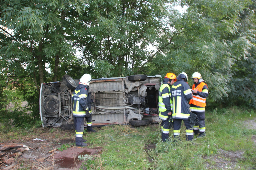
M 172 100 L 170 96 L 170 84 L 163 82 L 159 89 L 158 95 L 158 105 L 159 105 L 159 118 L 163 120 L 167 120 L 168 116 L 162 115 L 161 112 L 172 112 Z

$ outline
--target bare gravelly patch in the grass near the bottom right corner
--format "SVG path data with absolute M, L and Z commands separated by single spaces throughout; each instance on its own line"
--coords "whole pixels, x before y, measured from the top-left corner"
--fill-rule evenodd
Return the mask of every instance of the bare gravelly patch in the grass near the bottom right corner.
M 205 156 L 204 159 L 207 169 L 240 169 L 237 162 L 243 159 L 244 151 L 225 151 L 218 150 L 218 154 Z

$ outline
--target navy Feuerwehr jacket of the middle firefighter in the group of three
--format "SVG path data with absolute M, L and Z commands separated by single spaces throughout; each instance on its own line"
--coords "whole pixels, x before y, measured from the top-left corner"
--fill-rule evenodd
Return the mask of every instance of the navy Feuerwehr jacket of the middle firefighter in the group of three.
M 188 119 L 190 109 L 188 100 L 192 99 L 192 91 L 183 79 L 177 79 L 171 87 L 171 99 L 173 100 L 173 119 Z

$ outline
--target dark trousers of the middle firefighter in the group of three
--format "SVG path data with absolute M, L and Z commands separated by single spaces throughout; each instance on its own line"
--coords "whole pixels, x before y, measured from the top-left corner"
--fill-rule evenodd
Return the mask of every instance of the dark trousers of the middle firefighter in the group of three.
M 179 137 L 180 135 L 180 126 L 181 126 L 182 119 L 174 119 L 174 127 L 173 127 L 173 137 Z M 183 120 L 186 126 L 186 140 L 193 140 L 194 139 L 194 132 L 193 128 L 191 128 L 189 124 L 189 120 Z

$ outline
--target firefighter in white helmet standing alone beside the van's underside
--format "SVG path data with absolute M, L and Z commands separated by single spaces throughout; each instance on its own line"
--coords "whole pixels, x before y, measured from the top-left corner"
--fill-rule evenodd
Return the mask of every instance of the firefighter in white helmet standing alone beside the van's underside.
M 92 129 L 92 115 L 91 115 L 91 99 L 89 84 L 92 80 L 90 74 L 84 74 L 78 86 L 73 92 L 71 100 L 73 101 L 73 117 L 74 125 L 76 129 L 76 146 L 87 146 L 86 140 L 83 139 L 84 130 L 84 117 L 87 121 L 87 131 L 95 131 Z

